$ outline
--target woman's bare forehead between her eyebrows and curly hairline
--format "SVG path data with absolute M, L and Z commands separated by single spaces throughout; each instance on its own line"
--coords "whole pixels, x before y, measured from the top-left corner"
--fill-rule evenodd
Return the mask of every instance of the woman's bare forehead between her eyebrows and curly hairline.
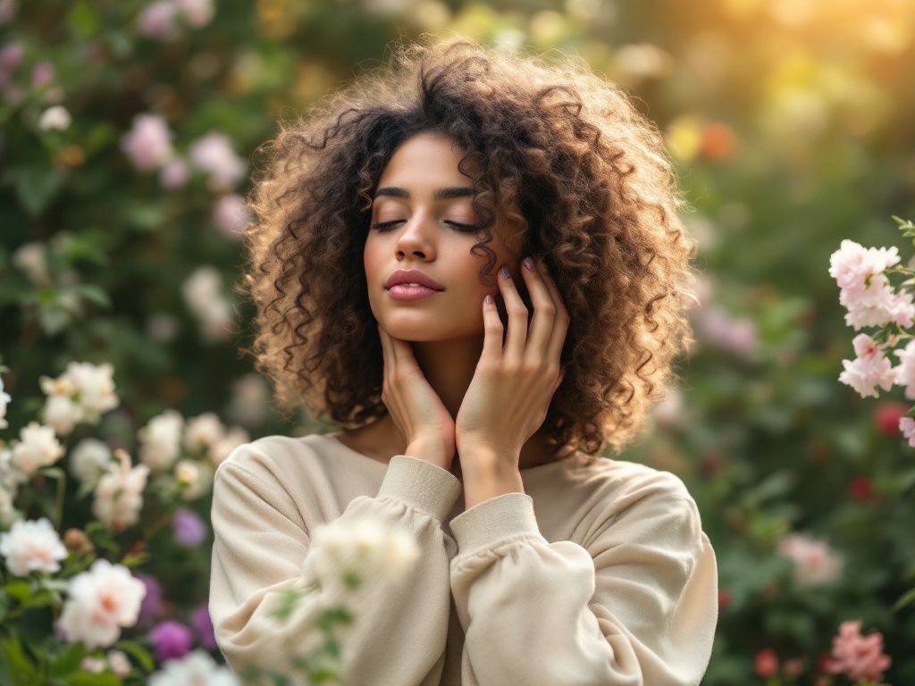
M 458 162 L 466 154 L 458 142 L 446 134 L 415 134 L 399 145 L 384 167 L 381 186 L 429 189 L 445 186 L 470 186 L 471 177 L 458 171 Z M 468 160 L 469 171 L 475 167 Z

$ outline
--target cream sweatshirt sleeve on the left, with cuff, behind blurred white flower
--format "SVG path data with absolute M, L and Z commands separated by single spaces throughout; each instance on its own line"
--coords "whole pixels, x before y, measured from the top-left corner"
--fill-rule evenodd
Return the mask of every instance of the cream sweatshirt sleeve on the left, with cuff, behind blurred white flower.
M 310 535 L 323 522 L 304 521 L 281 479 L 263 462 L 263 455 L 226 460 L 213 483 L 210 616 L 217 644 L 238 672 L 252 664 L 284 671 L 291 658 L 315 647 L 309 640 L 319 632 L 309 621 L 318 608 L 334 604 L 322 597 L 331 592 L 323 588 L 302 598 L 284 622 L 269 616 L 284 591 L 305 587 L 306 577 L 310 581 Z M 442 520 L 459 489 L 458 478 L 446 469 L 393 456 L 377 496 L 353 498 L 339 515 L 338 520 L 370 517 L 405 527 L 421 553 L 395 585 L 366 580 L 358 606 L 350 607 L 356 621 L 345 634 L 349 659 L 343 667 L 351 683 L 438 683 L 451 602 Z

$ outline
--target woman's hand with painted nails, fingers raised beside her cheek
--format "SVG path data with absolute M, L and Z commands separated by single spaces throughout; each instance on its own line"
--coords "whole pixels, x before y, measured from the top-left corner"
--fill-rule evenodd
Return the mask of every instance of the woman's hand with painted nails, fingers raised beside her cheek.
M 563 381 L 559 359 L 568 312 L 544 263 L 532 266 L 533 271 L 520 270 L 533 305 L 530 330 L 527 307 L 507 271 L 498 276 L 508 313 L 504 346 L 495 301 L 483 303 L 483 352 L 455 418 L 455 443 L 465 472 L 475 459 L 517 467 L 523 445 L 544 423 Z

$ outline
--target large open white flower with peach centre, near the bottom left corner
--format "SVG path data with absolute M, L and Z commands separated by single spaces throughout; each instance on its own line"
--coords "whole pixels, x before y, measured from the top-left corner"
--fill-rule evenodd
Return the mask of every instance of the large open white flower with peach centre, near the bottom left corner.
M 136 624 L 146 587 L 124 565 L 99 559 L 70 580 L 67 595 L 59 619 L 67 640 L 107 648 L 121 636 L 121 627 Z

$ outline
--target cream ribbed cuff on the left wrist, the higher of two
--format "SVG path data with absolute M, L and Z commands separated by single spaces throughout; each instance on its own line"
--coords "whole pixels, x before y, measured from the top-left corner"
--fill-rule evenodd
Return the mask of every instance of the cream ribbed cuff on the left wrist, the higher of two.
M 419 457 L 395 455 L 378 495 L 400 498 L 442 522 L 458 500 L 460 489 L 458 477 L 447 469 Z

